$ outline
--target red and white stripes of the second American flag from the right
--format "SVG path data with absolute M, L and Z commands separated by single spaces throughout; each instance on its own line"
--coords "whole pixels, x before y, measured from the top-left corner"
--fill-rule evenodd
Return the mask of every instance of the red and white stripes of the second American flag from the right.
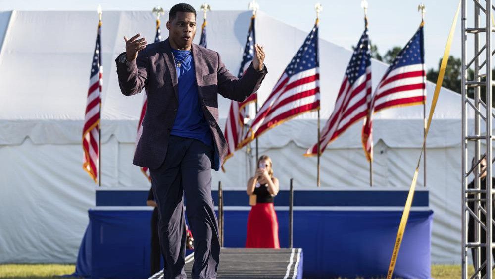
M 320 134 L 320 154 L 350 125 L 366 116 L 368 112 L 367 100 L 370 96 L 371 67 L 367 67 L 366 74 L 360 76 L 352 85 L 348 82 L 347 76 L 344 77 L 334 111 Z M 318 143 L 310 147 L 304 155 L 318 155 Z

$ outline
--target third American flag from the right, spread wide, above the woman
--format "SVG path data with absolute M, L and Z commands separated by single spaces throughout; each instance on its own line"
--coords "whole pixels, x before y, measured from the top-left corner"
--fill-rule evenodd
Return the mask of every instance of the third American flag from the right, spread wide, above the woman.
M 285 68 L 247 132 L 241 145 L 269 129 L 320 106 L 318 21 Z

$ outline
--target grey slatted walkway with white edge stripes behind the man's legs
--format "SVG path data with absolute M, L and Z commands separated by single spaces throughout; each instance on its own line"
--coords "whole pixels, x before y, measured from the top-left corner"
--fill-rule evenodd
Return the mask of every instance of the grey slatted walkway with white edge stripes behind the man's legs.
M 191 277 L 194 253 L 186 257 L 186 274 Z M 302 249 L 222 248 L 217 278 L 302 279 Z M 163 279 L 160 271 L 149 279 Z

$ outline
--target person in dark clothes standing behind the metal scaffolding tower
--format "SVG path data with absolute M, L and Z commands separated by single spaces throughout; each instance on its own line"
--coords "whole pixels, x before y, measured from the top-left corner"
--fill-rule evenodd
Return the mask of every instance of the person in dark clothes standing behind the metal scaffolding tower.
M 476 164 L 476 158 L 473 158 L 472 162 L 471 162 L 471 166 L 474 166 Z M 487 187 L 486 187 L 486 182 L 487 182 L 487 160 L 486 159 L 483 159 L 481 160 L 480 162 L 480 168 L 479 169 L 479 173 L 480 173 L 480 189 L 481 190 L 485 190 Z M 478 171 L 478 168 L 475 169 L 475 171 Z M 468 188 L 469 189 L 474 189 L 474 180 L 471 181 L 471 183 L 469 183 L 468 185 Z M 495 188 L 495 178 L 492 177 L 492 188 Z M 480 194 L 481 196 L 481 206 L 483 208 L 485 208 L 485 205 L 486 203 L 483 202 L 486 198 L 486 194 L 485 193 L 482 193 Z M 469 194 L 468 199 L 474 199 L 475 198 L 475 195 L 474 194 Z M 474 212 L 476 213 L 475 211 L 475 208 L 474 208 L 474 201 L 468 201 L 468 207 Z M 492 212 L 495 213 L 495 207 L 494 205 L 492 204 Z M 469 213 L 467 213 L 469 214 Z M 486 223 L 485 220 L 486 220 L 486 217 L 485 217 L 485 214 L 483 213 L 480 213 L 480 219 L 481 219 L 481 222 L 483 223 Z M 468 242 L 474 242 L 474 226 L 475 226 L 475 220 L 474 218 L 471 216 L 471 214 L 469 214 L 469 222 L 468 222 Z M 485 244 L 486 243 L 486 231 L 485 229 L 483 229 L 483 227 L 481 227 L 481 230 L 480 230 L 480 243 L 482 244 Z M 492 239 L 495 239 L 495 226 L 492 224 Z M 485 259 L 486 259 L 486 248 L 485 247 L 481 247 L 481 257 L 479 259 L 479 264 L 478 265 L 481 265 L 483 262 L 485 262 Z M 492 250 L 492 255 L 493 257 L 495 258 L 495 250 Z M 475 248 L 472 248 L 471 249 L 471 256 L 473 257 L 473 263 L 476 263 L 477 262 L 477 259 L 476 259 L 476 249 Z M 491 263 L 490 263 L 490 266 L 491 266 Z M 485 276 L 487 273 L 486 271 L 486 268 L 483 267 L 480 271 L 480 275 L 481 277 Z

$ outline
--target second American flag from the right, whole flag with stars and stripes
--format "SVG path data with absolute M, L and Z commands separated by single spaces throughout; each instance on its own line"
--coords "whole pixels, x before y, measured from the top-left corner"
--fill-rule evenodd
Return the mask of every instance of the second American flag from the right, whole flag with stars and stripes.
M 357 120 L 366 116 L 371 99 L 371 52 L 366 27 L 347 66 L 334 111 L 320 133 L 320 154 Z M 305 156 L 318 155 L 318 143 Z

